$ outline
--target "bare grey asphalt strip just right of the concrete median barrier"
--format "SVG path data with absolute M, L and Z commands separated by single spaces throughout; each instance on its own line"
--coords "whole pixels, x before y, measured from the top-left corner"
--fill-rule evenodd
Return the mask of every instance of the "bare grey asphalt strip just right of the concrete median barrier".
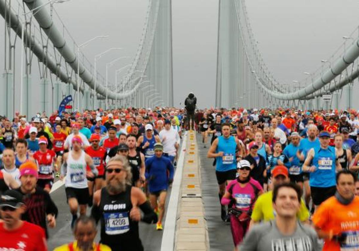
M 197 145 L 201 163 L 202 198 L 204 201 L 205 217 L 207 219 L 209 245 L 211 251 L 231 251 L 234 248 L 230 224 L 222 221 L 218 198 L 218 183 L 213 159 L 207 158 L 210 138 L 204 148 L 202 136 L 198 133 Z

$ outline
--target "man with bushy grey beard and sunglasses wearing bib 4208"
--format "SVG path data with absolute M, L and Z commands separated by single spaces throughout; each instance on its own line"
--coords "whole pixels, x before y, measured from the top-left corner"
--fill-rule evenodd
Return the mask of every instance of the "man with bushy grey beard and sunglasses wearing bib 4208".
M 157 222 L 145 194 L 131 186 L 131 177 L 127 158 L 116 155 L 106 166 L 106 187 L 94 193 L 91 215 L 96 222 L 101 219 L 101 243 L 113 251 L 143 251 L 138 222 Z

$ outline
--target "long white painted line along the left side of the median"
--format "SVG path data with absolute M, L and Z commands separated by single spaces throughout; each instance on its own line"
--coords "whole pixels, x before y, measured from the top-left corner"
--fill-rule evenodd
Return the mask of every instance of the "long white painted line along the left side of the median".
M 180 188 L 182 182 L 183 162 L 186 155 L 187 132 L 183 137 L 180 157 L 178 158 L 176 173 L 174 174 L 173 184 L 171 189 L 171 196 L 167 207 L 166 220 L 164 222 L 161 251 L 172 251 L 174 246 L 174 234 L 176 231 L 176 217 L 178 196 L 180 195 Z

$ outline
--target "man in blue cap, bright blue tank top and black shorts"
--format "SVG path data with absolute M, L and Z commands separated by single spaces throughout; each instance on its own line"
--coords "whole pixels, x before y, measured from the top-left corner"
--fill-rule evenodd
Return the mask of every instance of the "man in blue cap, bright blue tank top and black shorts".
M 319 134 L 320 146 L 309 150 L 303 164 L 303 172 L 310 172 L 312 200 L 315 209 L 336 191 L 336 171 L 341 170 L 334 147 L 329 146 L 330 134 L 322 131 Z

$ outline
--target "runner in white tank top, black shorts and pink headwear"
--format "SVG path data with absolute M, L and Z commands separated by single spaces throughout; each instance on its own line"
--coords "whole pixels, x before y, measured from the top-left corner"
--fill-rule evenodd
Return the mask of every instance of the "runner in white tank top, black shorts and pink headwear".
M 74 136 L 71 141 L 73 149 L 66 152 L 63 156 L 64 163 L 61 166 L 62 180 L 65 179 L 65 192 L 67 203 L 72 214 L 71 228 L 74 227 L 77 219 L 77 211 L 80 205 L 80 215 L 86 213 L 86 207 L 89 201 L 89 189 L 87 184 L 87 176 L 93 178 L 98 175 L 98 170 L 94 166 L 92 158 L 82 149 L 82 138 L 78 135 Z M 87 172 L 86 166 L 91 169 Z

